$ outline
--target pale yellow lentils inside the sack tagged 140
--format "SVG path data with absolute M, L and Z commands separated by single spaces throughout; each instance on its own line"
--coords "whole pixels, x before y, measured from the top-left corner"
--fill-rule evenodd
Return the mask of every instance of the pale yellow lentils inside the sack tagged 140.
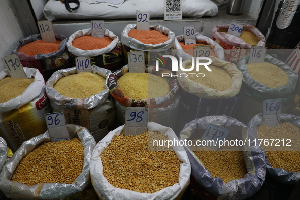
M 104 90 L 105 78 L 90 72 L 80 72 L 63 77 L 54 85 L 61 95 L 71 98 L 88 98 Z

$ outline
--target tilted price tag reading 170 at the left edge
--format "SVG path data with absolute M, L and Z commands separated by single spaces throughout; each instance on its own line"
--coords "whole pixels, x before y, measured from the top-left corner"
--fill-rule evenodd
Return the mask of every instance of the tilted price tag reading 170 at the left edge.
M 21 61 L 17 55 L 9 55 L 1 59 L 12 78 L 27 79 Z

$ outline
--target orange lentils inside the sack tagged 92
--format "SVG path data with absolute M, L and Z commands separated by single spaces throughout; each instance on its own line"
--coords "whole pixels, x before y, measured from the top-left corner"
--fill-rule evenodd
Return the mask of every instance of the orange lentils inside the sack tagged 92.
M 164 43 L 169 40 L 168 36 L 158 32 L 157 30 L 137 30 L 132 29 L 129 31 L 128 36 L 135 38 L 144 44 L 156 45 Z

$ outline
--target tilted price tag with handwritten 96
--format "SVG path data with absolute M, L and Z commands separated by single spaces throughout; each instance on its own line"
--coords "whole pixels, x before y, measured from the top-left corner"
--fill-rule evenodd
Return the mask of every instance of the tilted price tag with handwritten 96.
M 44 117 L 51 142 L 71 139 L 62 112 L 47 113 Z

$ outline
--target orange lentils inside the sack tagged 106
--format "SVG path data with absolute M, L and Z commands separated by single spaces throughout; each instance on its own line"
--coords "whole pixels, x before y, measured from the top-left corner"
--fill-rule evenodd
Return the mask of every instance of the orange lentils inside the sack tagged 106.
M 109 44 L 111 44 L 112 41 L 113 39 L 111 39 L 108 36 L 104 36 L 104 38 L 97 38 L 93 36 L 82 36 L 75 39 L 72 42 L 72 46 L 87 51 L 87 50 L 105 48 Z

